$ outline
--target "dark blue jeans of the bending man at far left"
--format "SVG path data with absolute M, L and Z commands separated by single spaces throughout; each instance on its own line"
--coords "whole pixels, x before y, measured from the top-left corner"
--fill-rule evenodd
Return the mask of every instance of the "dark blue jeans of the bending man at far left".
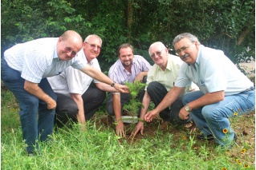
M 39 149 L 37 141 L 47 140 L 48 135 L 51 135 L 53 131 L 55 109 L 47 109 L 47 104 L 44 101 L 26 92 L 24 89 L 25 80 L 21 77 L 21 73 L 11 69 L 4 58 L 1 60 L 1 67 L 2 81 L 18 100 L 22 137 L 26 143 L 26 152 L 34 152 L 35 148 Z M 57 97 L 47 78 L 41 80 L 39 87 L 56 101 Z

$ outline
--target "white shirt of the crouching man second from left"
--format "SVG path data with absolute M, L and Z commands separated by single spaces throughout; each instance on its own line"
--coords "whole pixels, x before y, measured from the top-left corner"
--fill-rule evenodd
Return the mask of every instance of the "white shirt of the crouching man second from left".
M 98 60 L 94 58 L 91 62 L 88 62 L 83 53 L 83 49 L 79 51 L 77 57 L 82 57 L 83 61 L 86 61 L 88 65 L 101 71 Z M 69 97 L 70 93 L 78 93 L 82 95 L 88 89 L 91 81 L 94 81 L 94 83 L 100 82 L 71 66 L 64 69 L 59 75 L 48 77 L 47 79 L 55 93 L 61 93 Z

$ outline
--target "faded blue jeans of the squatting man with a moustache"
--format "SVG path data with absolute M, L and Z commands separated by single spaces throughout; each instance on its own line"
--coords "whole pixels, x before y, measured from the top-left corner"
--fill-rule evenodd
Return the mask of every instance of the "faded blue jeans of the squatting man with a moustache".
M 194 91 L 186 93 L 182 102 L 184 105 L 202 97 L 204 93 Z M 205 136 L 212 134 L 215 142 L 221 146 L 228 146 L 234 140 L 234 130 L 230 126 L 231 117 L 250 113 L 255 107 L 255 90 L 226 96 L 223 101 L 204 107 L 193 109 L 191 118 Z M 223 132 L 223 129 L 227 129 Z

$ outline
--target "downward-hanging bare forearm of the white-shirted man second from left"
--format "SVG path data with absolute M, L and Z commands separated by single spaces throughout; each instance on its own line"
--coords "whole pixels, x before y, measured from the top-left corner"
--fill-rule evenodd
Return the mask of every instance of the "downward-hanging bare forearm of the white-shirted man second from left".
M 81 124 L 85 124 L 84 110 L 83 110 L 83 98 L 81 94 L 71 93 L 72 99 L 75 101 L 78 107 L 77 121 Z

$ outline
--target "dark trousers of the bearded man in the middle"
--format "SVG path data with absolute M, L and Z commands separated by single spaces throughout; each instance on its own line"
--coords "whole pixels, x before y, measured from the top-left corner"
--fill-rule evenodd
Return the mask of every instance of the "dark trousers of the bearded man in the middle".
M 147 77 L 143 77 L 143 83 L 147 82 Z M 140 93 L 138 94 L 137 98 L 140 100 L 140 103 L 142 103 L 143 97 L 144 97 L 144 93 L 145 90 L 140 89 Z M 120 102 L 121 102 L 121 113 L 122 113 L 122 108 L 123 106 L 128 103 L 128 101 L 131 100 L 131 94 L 129 93 L 120 93 Z M 113 108 L 113 97 L 112 97 L 112 93 L 109 93 L 108 96 L 108 101 L 107 101 L 107 109 L 108 109 L 108 114 L 115 116 L 114 113 L 114 108 Z M 138 117 L 140 117 L 140 110 L 141 110 L 141 106 L 138 108 Z

